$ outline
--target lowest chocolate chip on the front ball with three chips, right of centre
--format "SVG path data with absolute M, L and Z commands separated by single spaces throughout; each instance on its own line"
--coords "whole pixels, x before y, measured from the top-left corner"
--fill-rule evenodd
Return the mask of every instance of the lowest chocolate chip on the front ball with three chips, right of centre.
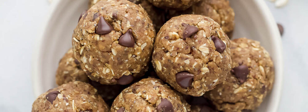
M 193 78 L 195 75 L 188 73 L 187 71 L 181 71 L 176 74 L 176 83 L 180 87 L 186 88 L 193 83 Z

